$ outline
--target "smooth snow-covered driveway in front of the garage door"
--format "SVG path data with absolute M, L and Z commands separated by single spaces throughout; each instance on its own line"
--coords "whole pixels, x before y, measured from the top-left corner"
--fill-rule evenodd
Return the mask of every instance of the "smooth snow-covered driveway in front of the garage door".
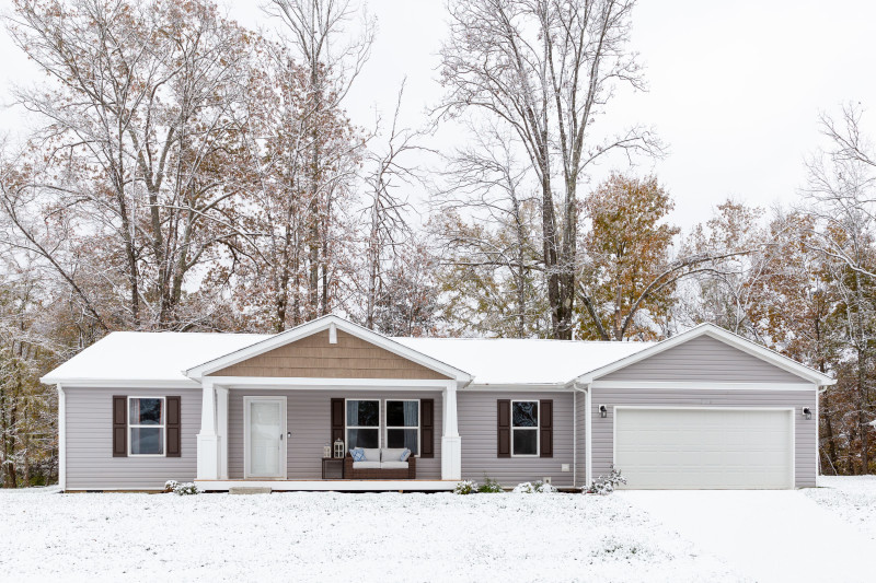
M 695 541 L 702 552 L 761 583 L 873 581 L 876 541 L 807 493 L 667 490 L 620 495 Z

